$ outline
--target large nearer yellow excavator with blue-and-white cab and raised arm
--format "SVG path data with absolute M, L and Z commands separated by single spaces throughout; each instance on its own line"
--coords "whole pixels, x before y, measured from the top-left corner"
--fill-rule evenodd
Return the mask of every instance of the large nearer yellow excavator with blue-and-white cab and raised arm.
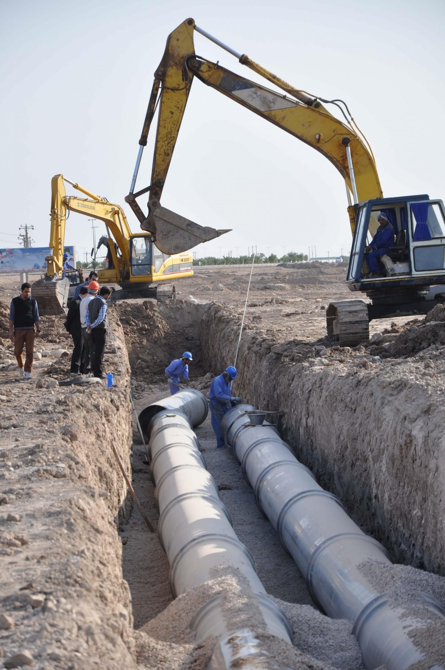
M 225 49 L 283 93 L 235 74 L 219 62 L 196 56 L 194 31 Z M 186 19 L 168 36 L 164 56 L 155 70 L 131 188 L 125 198 L 141 228 L 151 232 L 162 251 L 178 253 L 190 249 L 194 246 L 190 243 L 192 233 L 199 233 L 200 228 L 194 228 L 196 224 L 188 226 L 187 219 L 160 204 L 195 77 L 319 151 L 344 179 L 348 220 L 353 232 L 346 283 L 351 291 L 366 293 L 370 300 L 331 303 L 326 312 L 328 335 L 342 345 L 353 346 L 369 338 L 369 322 L 373 319 L 426 314 L 444 301 L 445 208 L 442 200 L 432 200 L 425 194 L 383 198 L 371 147 L 343 100 L 326 100 L 288 84 L 249 56 L 239 54 L 202 30 L 194 19 Z M 335 108 L 341 121 L 328 106 Z M 143 147 L 147 145 L 157 107 L 151 184 L 135 192 Z M 136 199 L 147 193 L 148 212 L 145 214 Z M 369 273 L 367 253 L 371 238 L 379 228 L 379 216 L 392 227 L 393 237 L 385 253 L 378 258 L 379 272 Z M 223 232 L 227 231 L 214 231 L 216 235 Z

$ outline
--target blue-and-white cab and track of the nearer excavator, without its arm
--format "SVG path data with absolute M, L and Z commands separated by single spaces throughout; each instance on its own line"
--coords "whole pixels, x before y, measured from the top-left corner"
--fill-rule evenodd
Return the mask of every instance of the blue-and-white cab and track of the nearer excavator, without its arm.
M 376 198 L 356 209 L 353 247 L 346 283 L 366 293 L 371 302 L 331 303 L 326 310 L 328 335 L 342 346 L 369 339 L 369 322 L 395 316 L 426 314 L 445 301 L 445 208 L 428 195 Z M 374 257 L 378 273 L 370 273 L 369 255 L 379 216 L 393 229 L 390 243 Z

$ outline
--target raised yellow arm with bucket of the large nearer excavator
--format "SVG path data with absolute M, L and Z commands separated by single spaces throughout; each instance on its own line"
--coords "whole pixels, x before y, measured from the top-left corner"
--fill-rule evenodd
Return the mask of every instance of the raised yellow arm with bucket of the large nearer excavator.
M 223 68 L 218 63 L 196 56 L 194 29 L 225 48 L 236 56 L 241 64 L 251 68 L 285 93 L 279 94 Z M 208 241 L 223 232 L 228 232 L 201 228 L 160 205 L 162 190 L 195 76 L 204 84 L 312 146 L 331 161 L 346 182 L 348 214 L 352 230 L 355 224 L 355 211 L 351 202 L 351 192 L 356 204 L 383 196 L 371 148 L 352 117 L 348 118 L 348 109 L 341 100 L 322 100 L 295 88 L 255 63 L 249 56 L 237 54 L 206 34 L 195 25 L 193 19 L 186 19 L 168 37 L 164 56 L 155 72 L 143 131 L 139 139 L 139 153 L 131 189 L 125 198 L 139 219 L 141 228 L 153 233 L 157 246 L 165 253 L 185 251 L 199 242 Z M 342 111 L 346 123 L 334 117 L 322 103 L 336 105 Z M 346 112 L 339 103 L 344 105 Z M 151 184 L 134 192 L 143 147 L 147 144 L 147 135 L 158 104 L 160 113 L 157 120 Z M 147 203 L 148 216 L 145 216 L 136 198 L 148 192 L 150 193 Z

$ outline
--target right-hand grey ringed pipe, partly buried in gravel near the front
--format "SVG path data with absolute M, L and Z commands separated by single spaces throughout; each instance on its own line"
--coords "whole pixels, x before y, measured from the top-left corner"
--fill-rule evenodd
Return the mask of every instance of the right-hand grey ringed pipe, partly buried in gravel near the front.
M 259 509 L 306 577 L 314 602 L 328 616 L 354 622 L 353 634 L 368 670 L 381 665 L 406 670 L 421 660 L 422 667 L 443 669 L 411 639 L 416 629 L 445 616 L 442 604 L 418 594 L 417 611 L 411 614 L 371 584 L 363 563 L 392 565 L 385 549 L 361 531 L 338 498 L 317 484 L 272 425 L 252 425 L 246 414 L 252 409 L 231 409 L 223 419 L 223 434 Z

